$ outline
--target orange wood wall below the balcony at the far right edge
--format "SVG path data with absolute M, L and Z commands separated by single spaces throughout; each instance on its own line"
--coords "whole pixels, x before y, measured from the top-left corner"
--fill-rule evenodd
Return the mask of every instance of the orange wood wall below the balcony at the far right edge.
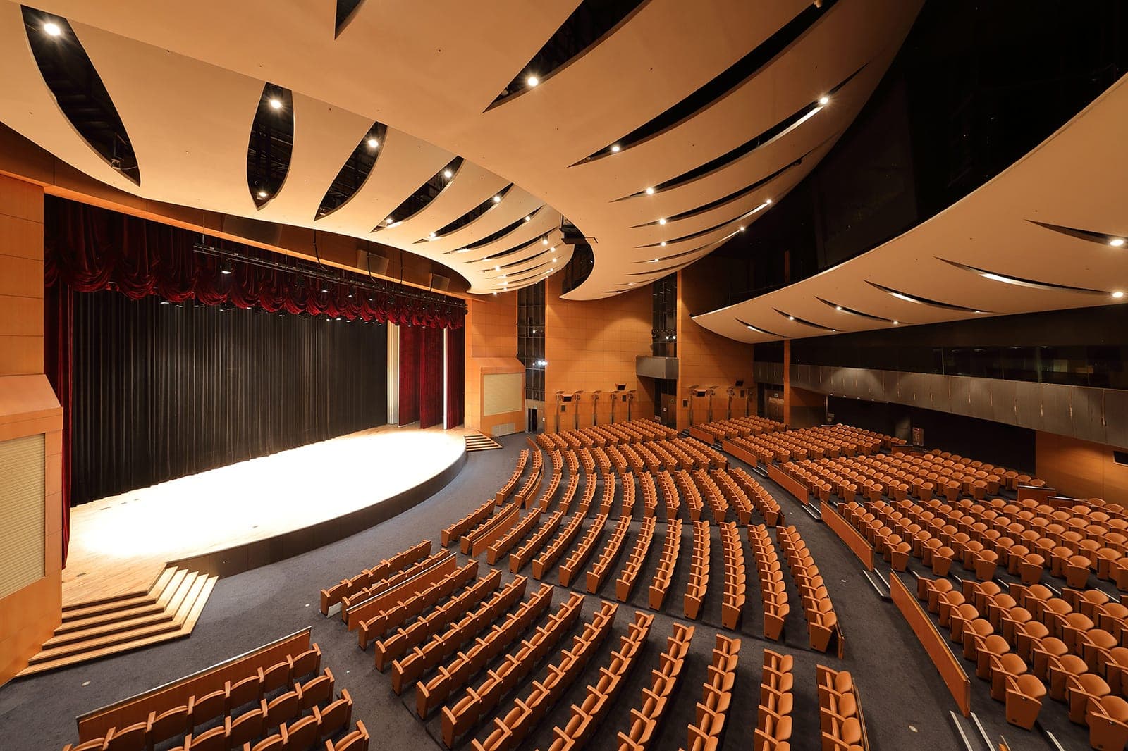
M 1128 467 L 1112 460 L 1112 450 L 1101 443 L 1039 432 L 1034 474 L 1061 495 L 1128 505 Z

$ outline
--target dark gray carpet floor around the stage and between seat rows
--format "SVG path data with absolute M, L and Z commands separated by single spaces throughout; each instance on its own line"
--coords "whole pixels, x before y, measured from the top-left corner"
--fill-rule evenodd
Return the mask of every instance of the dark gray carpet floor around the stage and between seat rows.
M 323 650 L 323 664 L 329 666 L 336 674 L 338 689 L 347 688 L 352 695 L 355 701 L 353 717 L 363 721 L 368 726 L 373 737 L 373 749 L 442 748 L 435 740 L 439 736 L 438 718 L 432 716 L 423 722 L 409 710 L 408 705 L 414 701 L 414 690 L 408 689 L 404 697 L 398 697 L 391 691 L 389 678 L 377 671 L 372 663 L 372 650 L 360 651 L 355 635 L 345 630 L 340 618 L 324 618 L 320 615 L 317 608 L 318 592 L 420 539 L 428 538 L 438 542 L 439 529 L 493 495 L 511 472 L 517 453 L 527 445 L 525 435 L 504 438 L 502 443 L 501 450 L 469 454 L 466 468 L 450 485 L 393 520 L 309 554 L 220 580 L 190 638 L 26 680 L 16 680 L 3 687 L 0 689 L 0 749 L 3 751 L 62 749 L 65 743 L 77 740 L 74 717 L 79 714 L 175 680 L 307 626 L 312 628 L 314 639 Z M 793 749 L 813 751 L 821 748 L 814 688 L 817 664 L 852 671 L 861 689 L 871 748 L 875 751 L 919 748 L 934 751 L 962 749 L 962 743 L 958 740 L 949 717 L 954 703 L 924 650 L 892 603 L 878 597 L 862 576 L 858 560 L 825 524 L 802 513 L 797 502 L 773 483 L 759 477 L 757 479 L 779 500 L 788 523 L 794 523 L 799 528 L 819 565 L 845 631 L 845 659 L 839 661 L 835 656 L 819 654 L 807 647 L 807 630 L 801 606 L 790 581 L 795 612 L 787 624 L 783 644 L 761 638 L 763 610 L 755 576 L 750 576 L 749 580 L 748 606 L 740 633 L 733 634 L 719 628 L 719 592 L 723 567 L 720 539 L 716 528 L 713 527 L 713 578 L 710 594 L 702 618 L 696 624 L 696 636 L 682 679 L 676 689 L 675 704 L 659 728 L 656 743 L 652 748 L 658 751 L 672 751 L 686 744 L 686 725 L 693 719 L 695 705 L 700 699 L 700 686 L 714 646 L 715 634 L 725 633 L 730 636 L 741 636 L 742 648 L 732 706 L 721 745 L 723 749 L 747 749 L 751 745 L 764 648 L 787 652 L 795 657 Z M 598 504 L 600 494 L 597 493 L 596 497 Z M 611 520 L 617 518 L 618 500 Z M 600 536 L 583 571 L 591 567 L 610 536 L 611 527 L 613 523 L 609 523 Z M 608 577 L 607 584 L 599 593 L 588 595 L 584 618 L 579 624 L 576 633 L 599 607 L 601 598 L 614 600 L 614 580 L 634 545 L 638 527 L 640 522 L 632 524 L 614 566 L 616 574 Z M 547 748 L 550 744 L 553 726 L 566 723 L 571 704 L 582 701 L 587 681 L 593 680 L 598 666 L 606 663 L 611 650 L 618 647 L 619 635 L 626 631 L 634 611 L 637 609 L 651 612 L 645 607 L 645 592 L 649 578 L 653 575 L 663 534 L 664 524 L 660 523 L 651 554 L 631 601 L 619 606 L 611 638 L 603 643 L 589 663 L 588 672 L 569 688 L 563 699 L 541 721 L 522 748 Z M 747 538 L 743 533 L 741 538 L 746 546 L 746 556 L 751 564 Z M 690 544 L 691 525 L 685 524 L 684 555 L 688 555 Z M 460 562 L 466 560 L 465 556 L 459 557 Z M 558 564 L 546 575 L 545 581 L 556 584 L 557 568 Z M 671 633 L 675 621 L 685 621 L 680 608 L 688 578 L 687 568 L 679 565 L 676 569 L 666 607 L 662 612 L 655 613 L 650 638 L 640 654 L 635 670 L 611 705 L 607 718 L 589 748 L 597 751 L 617 748 L 616 733 L 626 728 L 627 714 L 638 704 L 640 690 L 644 682 L 649 681 L 650 671 L 656 666 L 658 655 L 666 646 L 666 636 Z M 484 558 L 479 571 L 486 571 Z M 527 566 L 521 573 L 530 577 L 530 591 L 539 584 L 531 578 L 531 566 Z M 503 581 L 510 578 L 506 560 Z M 579 576 L 573 589 L 583 587 L 583 575 Z M 554 597 L 554 610 L 567 597 L 564 587 L 557 586 L 557 590 Z M 556 659 L 556 653 L 557 651 L 553 651 L 530 678 L 543 675 L 548 663 Z M 985 682 L 972 680 L 973 683 L 984 683 L 973 687 L 981 689 L 975 695 L 973 708 L 980 713 L 993 739 L 997 740 L 1001 734 L 1005 735 L 1011 748 L 1016 750 L 1048 748 L 1036 734 L 1024 733 L 1006 725 L 1003 706 L 986 697 Z M 478 681 L 481 675 L 476 677 L 472 684 Z M 506 712 L 512 706 L 513 698 L 525 696 L 527 692 L 528 683 L 503 699 L 499 712 Z M 1048 710 L 1058 712 L 1060 708 L 1048 707 Z M 1061 714 L 1064 716 L 1064 712 Z M 490 732 L 493 716 L 484 718 L 459 742 L 459 748 L 468 749 L 470 737 L 484 739 Z M 1070 741 L 1076 737 L 1076 735 L 1069 736 Z M 977 748 L 981 748 L 981 743 Z

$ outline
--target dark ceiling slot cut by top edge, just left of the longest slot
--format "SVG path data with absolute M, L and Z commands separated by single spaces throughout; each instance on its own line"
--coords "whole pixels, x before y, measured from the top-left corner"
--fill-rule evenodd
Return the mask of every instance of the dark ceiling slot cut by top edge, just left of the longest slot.
M 582 0 L 567 20 L 532 55 L 521 72 L 501 90 L 486 111 L 509 97 L 536 88 L 557 69 L 583 54 L 609 36 L 637 8 L 649 0 Z

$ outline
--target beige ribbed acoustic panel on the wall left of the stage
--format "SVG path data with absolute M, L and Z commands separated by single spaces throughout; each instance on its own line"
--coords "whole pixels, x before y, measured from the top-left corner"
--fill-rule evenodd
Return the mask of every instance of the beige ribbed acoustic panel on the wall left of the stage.
M 43 578 L 44 435 L 0 441 L 0 599 Z

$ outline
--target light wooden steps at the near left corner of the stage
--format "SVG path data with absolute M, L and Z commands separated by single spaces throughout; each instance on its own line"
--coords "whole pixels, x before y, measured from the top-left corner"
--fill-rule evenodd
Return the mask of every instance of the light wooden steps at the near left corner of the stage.
M 19 675 L 65 668 L 187 636 L 218 576 L 166 566 L 148 592 L 63 608 L 63 620 Z

